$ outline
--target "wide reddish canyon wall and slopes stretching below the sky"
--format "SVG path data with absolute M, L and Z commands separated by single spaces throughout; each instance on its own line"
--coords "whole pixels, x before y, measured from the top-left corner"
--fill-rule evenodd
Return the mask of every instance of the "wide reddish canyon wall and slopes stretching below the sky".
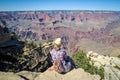
M 0 23 L 23 39 L 54 40 L 61 37 L 71 54 L 94 50 L 120 54 L 120 12 L 114 11 L 18 11 L 0 12 Z

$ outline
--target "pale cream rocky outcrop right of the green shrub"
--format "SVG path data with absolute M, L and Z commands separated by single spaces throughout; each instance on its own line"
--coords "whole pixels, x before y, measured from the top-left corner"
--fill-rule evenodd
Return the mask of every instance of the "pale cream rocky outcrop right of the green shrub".
M 99 55 L 93 51 L 89 51 L 87 57 L 93 61 L 95 66 L 104 68 L 104 80 L 120 80 L 119 58 Z

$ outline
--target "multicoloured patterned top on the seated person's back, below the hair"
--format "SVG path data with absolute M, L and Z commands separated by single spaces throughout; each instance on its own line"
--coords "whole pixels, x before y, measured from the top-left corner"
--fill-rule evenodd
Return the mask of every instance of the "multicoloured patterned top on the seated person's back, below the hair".
M 60 72 L 68 72 L 71 69 L 70 58 L 67 56 L 66 51 L 63 49 L 55 50 L 51 52 L 53 64 L 57 64 L 58 70 Z

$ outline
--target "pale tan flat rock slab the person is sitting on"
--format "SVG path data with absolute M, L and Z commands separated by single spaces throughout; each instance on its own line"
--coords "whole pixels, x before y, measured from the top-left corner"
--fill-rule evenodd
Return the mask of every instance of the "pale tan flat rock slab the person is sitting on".
M 66 74 L 59 74 L 55 71 L 41 73 L 35 80 L 100 80 L 98 75 L 90 75 L 83 69 L 74 69 Z

